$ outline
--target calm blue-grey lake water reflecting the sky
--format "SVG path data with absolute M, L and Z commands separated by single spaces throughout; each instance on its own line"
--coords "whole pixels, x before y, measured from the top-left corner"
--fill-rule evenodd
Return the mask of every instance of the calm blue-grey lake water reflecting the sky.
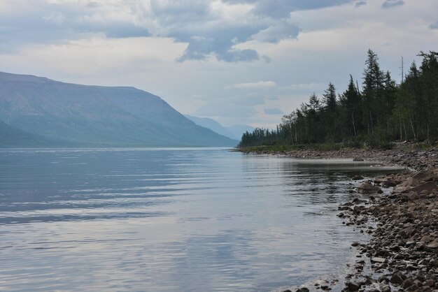
M 0 150 L 1 291 L 276 291 L 354 260 L 337 206 L 388 168 L 226 149 Z

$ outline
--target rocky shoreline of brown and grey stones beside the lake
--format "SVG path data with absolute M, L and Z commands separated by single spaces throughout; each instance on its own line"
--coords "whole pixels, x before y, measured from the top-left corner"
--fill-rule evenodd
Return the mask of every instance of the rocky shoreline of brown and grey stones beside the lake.
M 242 152 L 246 152 L 241 149 Z M 342 291 L 438 292 L 438 149 L 399 145 L 395 149 L 341 149 L 317 152 L 256 152 L 306 159 L 349 158 L 404 166 L 393 175 L 352 177 L 357 198 L 339 206 L 343 224 L 369 233 L 367 244 L 353 242 L 358 260 L 346 275 Z M 386 191 L 383 191 L 383 190 Z M 332 285 L 316 284 L 311 290 L 330 291 Z M 294 289 L 309 291 L 307 287 Z M 292 292 L 290 289 L 284 292 Z

